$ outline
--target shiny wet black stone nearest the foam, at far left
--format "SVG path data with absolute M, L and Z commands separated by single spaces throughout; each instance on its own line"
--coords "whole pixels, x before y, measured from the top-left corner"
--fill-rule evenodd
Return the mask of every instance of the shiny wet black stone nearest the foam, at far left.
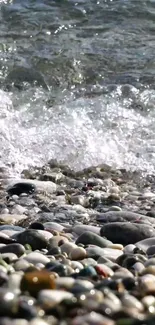
M 20 195 L 22 193 L 32 194 L 35 192 L 36 186 L 31 183 L 20 182 L 16 183 L 13 186 L 7 189 L 8 194 L 11 195 Z

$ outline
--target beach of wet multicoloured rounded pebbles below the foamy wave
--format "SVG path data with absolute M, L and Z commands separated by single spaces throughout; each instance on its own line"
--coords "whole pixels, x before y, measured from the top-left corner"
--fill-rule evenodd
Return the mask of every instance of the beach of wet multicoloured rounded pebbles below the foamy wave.
M 153 325 L 153 176 L 0 170 L 0 325 Z

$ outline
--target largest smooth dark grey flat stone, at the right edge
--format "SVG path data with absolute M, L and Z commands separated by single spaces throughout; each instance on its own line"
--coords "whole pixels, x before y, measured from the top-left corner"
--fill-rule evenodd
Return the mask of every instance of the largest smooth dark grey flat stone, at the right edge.
M 112 222 L 102 226 L 101 236 L 105 236 L 113 243 L 120 243 L 125 246 L 155 236 L 155 229 L 143 224 Z

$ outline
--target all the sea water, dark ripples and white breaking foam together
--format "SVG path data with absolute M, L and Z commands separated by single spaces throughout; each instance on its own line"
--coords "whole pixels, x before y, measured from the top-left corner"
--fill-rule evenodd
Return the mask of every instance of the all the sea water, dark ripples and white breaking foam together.
M 0 1 L 0 21 L 1 165 L 155 171 L 154 0 Z

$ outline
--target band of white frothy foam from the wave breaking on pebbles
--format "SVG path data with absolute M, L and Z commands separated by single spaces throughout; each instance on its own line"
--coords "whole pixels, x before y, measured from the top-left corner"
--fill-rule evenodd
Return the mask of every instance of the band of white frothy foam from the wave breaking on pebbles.
M 130 99 L 68 98 L 47 109 L 41 91 L 0 91 L 0 161 L 21 172 L 50 158 L 80 169 L 99 163 L 155 170 L 155 112 L 129 109 Z M 153 105 L 155 92 L 140 95 Z M 152 104 L 151 104 L 152 103 Z M 14 167 L 12 167 L 14 166 Z

